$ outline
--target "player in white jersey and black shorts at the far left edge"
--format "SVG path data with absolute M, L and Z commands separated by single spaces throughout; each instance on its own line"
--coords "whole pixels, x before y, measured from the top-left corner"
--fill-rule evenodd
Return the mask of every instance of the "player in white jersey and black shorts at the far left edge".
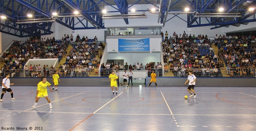
M 2 94 L 1 94 L 1 100 L 0 102 L 3 102 L 3 96 L 4 96 L 4 93 L 6 91 L 10 92 L 11 93 L 11 96 L 12 96 L 12 99 L 11 100 L 15 100 L 13 98 L 13 92 L 12 92 L 12 89 L 10 88 L 10 85 L 14 85 L 13 83 L 10 83 L 10 74 L 9 73 L 6 73 L 6 77 L 3 79 L 3 82 L 2 82 Z

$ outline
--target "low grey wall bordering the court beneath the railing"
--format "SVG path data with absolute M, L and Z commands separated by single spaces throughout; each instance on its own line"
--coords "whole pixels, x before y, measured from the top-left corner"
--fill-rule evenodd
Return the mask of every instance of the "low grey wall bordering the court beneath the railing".
M 2 78 L 3 79 L 3 78 Z M 11 83 L 14 83 L 14 86 L 36 86 L 40 78 L 10 78 Z M 48 77 L 48 81 L 52 83 L 52 78 Z M 158 86 L 168 86 L 168 87 L 187 87 L 184 83 L 187 78 L 177 78 L 177 77 L 162 77 L 156 78 Z M 135 82 L 135 81 L 134 81 Z M 146 83 L 147 85 L 150 82 L 150 77 L 148 77 Z M 60 86 L 110 86 L 108 77 L 61 77 Z M 53 85 L 52 85 L 53 86 Z M 154 83 L 151 86 L 155 86 Z M 256 78 L 197 78 L 196 86 L 227 86 L 227 87 L 237 87 L 237 86 L 247 86 L 247 87 L 256 87 Z

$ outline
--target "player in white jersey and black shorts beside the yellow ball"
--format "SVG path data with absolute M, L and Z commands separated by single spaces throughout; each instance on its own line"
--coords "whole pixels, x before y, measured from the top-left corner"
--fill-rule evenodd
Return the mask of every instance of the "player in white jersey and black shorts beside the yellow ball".
M 192 97 L 193 94 L 191 93 L 191 91 L 194 93 L 194 98 L 196 98 L 196 93 L 194 91 L 194 87 L 196 85 L 196 76 L 192 74 L 192 70 L 188 70 L 188 80 L 185 82 L 185 85 L 188 83 L 188 92 L 190 94 L 189 97 Z

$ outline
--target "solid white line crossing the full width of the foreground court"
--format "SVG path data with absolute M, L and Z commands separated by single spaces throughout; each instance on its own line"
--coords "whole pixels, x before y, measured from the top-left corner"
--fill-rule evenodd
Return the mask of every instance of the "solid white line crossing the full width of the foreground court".
M 0 110 L 1 112 L 2 111 L 6 111 L 6 112 L 44 112 L 44 111 L 15 111 L 15 110 Z M 92 114 L 90 112 L 51 112 L 51 113 L 69 113 L 69 114 Z M 94 113 L 94 114 L 106 114 L 106 115 L 193 115 L 193 116 L 196 116 L 196 115 L 204 115 L 204 116 L 221 116 L 221 114 L 123 114 L 123 113 Z M 256 116 L 256 114 L 231 114 L 231 115 L 228 115 L 228 114 L 222 114 L 223 116 Z M 175 118 L 174 118 L 175 119 Z M 174 120 L 175 121 L 175 120 Z

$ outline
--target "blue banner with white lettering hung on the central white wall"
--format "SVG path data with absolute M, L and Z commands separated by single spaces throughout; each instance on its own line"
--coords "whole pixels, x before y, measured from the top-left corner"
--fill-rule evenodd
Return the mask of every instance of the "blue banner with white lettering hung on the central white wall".
M 149 51 L 149 38 L 137 40 L 118 39 L 118 51 Z

